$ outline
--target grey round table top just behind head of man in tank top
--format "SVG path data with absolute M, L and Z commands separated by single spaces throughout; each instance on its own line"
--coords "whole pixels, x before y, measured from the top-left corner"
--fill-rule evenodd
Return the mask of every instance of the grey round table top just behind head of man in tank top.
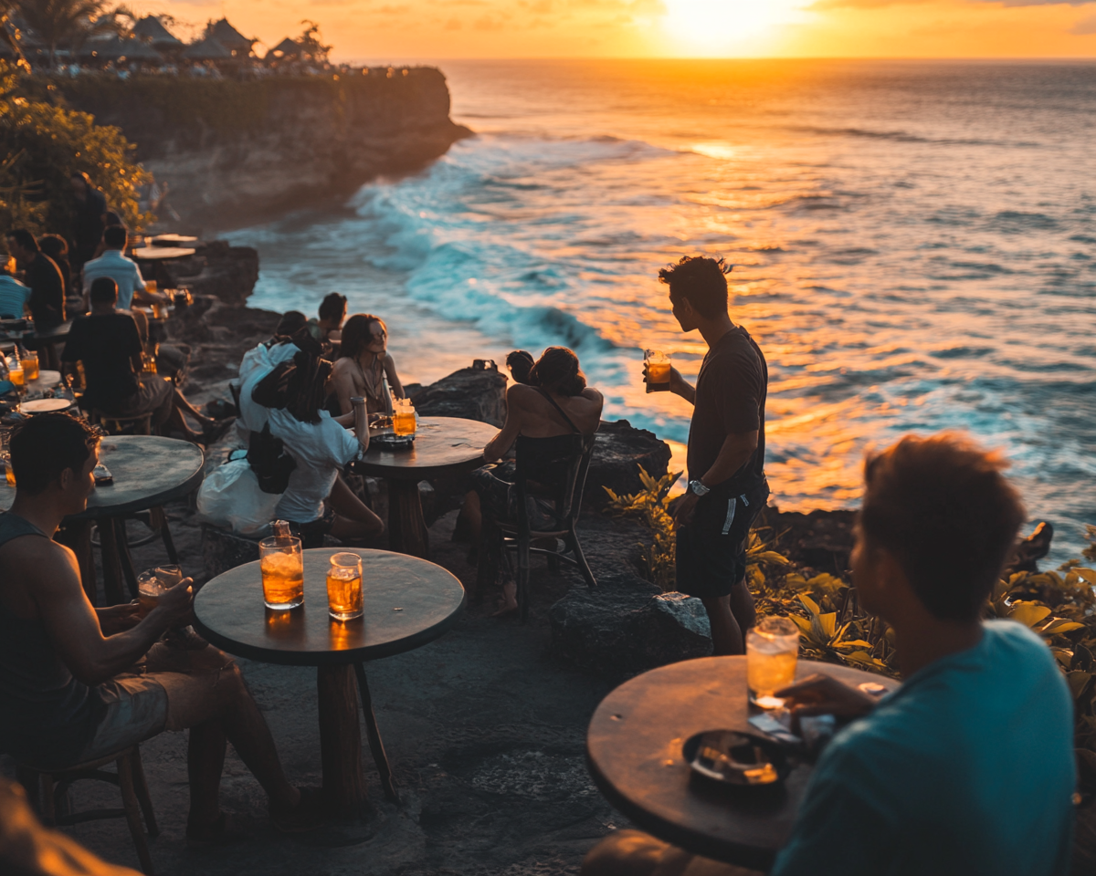
M 205 454 L 190 441 L 155 435 L 116 435 L 102 440 L 99 461 L 114 476 L 96 486 L 78 520 L 142 511 L 185 496 L 202 483 Z M 8 510 L 15 491 L 0 483 L 0 510 Z

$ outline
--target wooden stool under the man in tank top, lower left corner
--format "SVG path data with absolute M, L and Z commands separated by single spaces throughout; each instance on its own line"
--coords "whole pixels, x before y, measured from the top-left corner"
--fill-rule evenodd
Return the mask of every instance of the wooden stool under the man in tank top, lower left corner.
M 111 761 L 116 764 L 116 772 L 100 769 Z M 141 826 L 141 815 L 148 835 L 153 839 L 160 834 L 152 812 L 152 800 L 148 796 L 148 785 L 145 782 L 145 770 L 140 762 L 140 750 L 130 746 L 123 751 L 109 754 L 105 758 L 77 763 L 64 770 L 42 770 L 26 764 L 18 764 L 19 781 L 26 788 L 27 795 L 38 807 L 43 823 L 50 827 L 79 825 L 83 821 L 98 821 L 104 818 L 125 818 L 129 825 L 129 834 L 137 849 L 140 868 L 148 876 L 153 876 L 152 857 L 149 855 L 148 842 L 145 839 L 145 828 Z M 68 789 L 73 782 L 95 780 L 117 785 L 122 792 L 121 809 L 88 809 L 82 812 L 69 811 Z

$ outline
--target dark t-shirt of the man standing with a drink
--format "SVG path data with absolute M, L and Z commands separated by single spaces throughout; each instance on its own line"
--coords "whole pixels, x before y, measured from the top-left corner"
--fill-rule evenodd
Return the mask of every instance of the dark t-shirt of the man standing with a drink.
M 757 430 L 757 449 L 731 477 L 712 485 L 718 496 L 751 489 L 765 477 L 765 396 L 768 366 L 750 333 L 737 325 L 708 350 L 696 381 L 688 430 L 688 476 L 704 477 L 728 435 Z

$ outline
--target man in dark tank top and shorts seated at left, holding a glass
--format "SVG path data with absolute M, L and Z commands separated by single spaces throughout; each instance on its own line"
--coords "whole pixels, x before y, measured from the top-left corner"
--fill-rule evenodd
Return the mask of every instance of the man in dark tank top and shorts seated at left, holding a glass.
M 10 447 L 18 487 L 0 514 L 0 751 L 59 769 L 189 728 L 189 839 L 231 835 L 217 804 L 226 741 L 266 792 L 275 827 L 316 823 L 318 797 L 286 780 L 232 659 L 159 641 L 189 623 L 191 579 L 144 618 L 136 603 L 95 609 L 76 555 L 53 541 L 87 506 L 99 435 L 68 414 L 39 414 L 16 427 Z

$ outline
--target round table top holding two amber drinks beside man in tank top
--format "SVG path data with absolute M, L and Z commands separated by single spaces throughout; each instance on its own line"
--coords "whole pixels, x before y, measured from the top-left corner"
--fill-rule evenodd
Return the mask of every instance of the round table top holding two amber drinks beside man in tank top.
M 362 557 L 365 615 L 328 614 L 327 574 L 333 554 Z M 364 549 L 304 552 L 305 604 L 272 611 L 263 604 L 259 562 L 237 566 L 194 598 L 195 627 L 218 648 L 269 664 L 330 666 L 413 650 L 433 642 L 460 616 L 465 588 L 441 566 L 416 556 Z

